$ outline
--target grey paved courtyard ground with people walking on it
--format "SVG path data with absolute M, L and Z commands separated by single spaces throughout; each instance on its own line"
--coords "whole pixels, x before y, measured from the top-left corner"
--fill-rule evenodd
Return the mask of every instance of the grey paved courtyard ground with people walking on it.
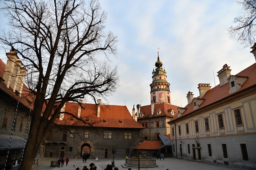
M 95 159 L 87 159 L 85 163 L 83 163 L 82 159 L 69 159 L 68 166 L 66 166 L 66 162 L 64 163 L 64 167 L 50 167 L 51 161 L 56 160 L 54 158 L 43 158 L 38 160 L 38 166 L 34 167 L 32 170 L 48 170 L 48 169 L 54 169 L 54 170 L 74 170 L 74 165 L 76 167 L 79 167 L 80 170 L 83 169 L 84 166 L 87 166 L 88 169 L 90 169 L 89 164 L 94 163 L 97 166 L 97 170 L 104 170 L 105 167 L 110 164 L 113 159 L 99 159 L 96 161 Z M 118 167 L 119 170 L 128 170 L 127 168 L 123 168 L 122 165 L 125 163 L 125 159 L 115 159 L 115 166 Z M 176 159 L 176 158 L 164 158 L 164 160 L 156 160 L 156 165 L 158 167 L 155 168 L 140 168 L 141 170 L 245 170 L 242 168 L 233 168 L 229 166 L 220 166 L 220 165 L 212 165 L 212 164 L 206 164 L 202 162 L 195 162 L 195 161 L 187 161 L 183 159 Z M 138 168 L 132 168 L 132 170 L 135 170 Z

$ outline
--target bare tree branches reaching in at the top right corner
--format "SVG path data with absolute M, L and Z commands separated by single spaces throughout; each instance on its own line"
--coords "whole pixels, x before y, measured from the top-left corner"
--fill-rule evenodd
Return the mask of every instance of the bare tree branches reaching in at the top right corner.
M 236 26 L 228 28 L 230 38 L 236 39 L 245 47 L 252 46 L 256 36 L 256 0 L 237 2 L 243 6 L 243 14 L 235 18 Z

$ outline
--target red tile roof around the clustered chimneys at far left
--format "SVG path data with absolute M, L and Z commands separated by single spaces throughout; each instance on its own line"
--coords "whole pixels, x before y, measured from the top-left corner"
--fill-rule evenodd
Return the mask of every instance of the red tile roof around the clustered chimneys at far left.
M 5 69 L 6 64 L 0 59 L 0 77 L 3 78 L 4 76 L 4 69 Z M 6 81 L 6 80 L 5 80 Z M 6 85 L 3 83 L 0 83 L 0 90 L 4 91 L 7 95 L 11 96 L 12 98 L 16 99 L 19 101 L 21 104 L 24 106 L 28 107 L 28 109 L 33 110 L 34 107 L 34 95 L 31 94 L 30 90 L 28 87 L 23 84 L 23 89 L 21 96 L 17 96 L 11 88 L 7 88 Z

